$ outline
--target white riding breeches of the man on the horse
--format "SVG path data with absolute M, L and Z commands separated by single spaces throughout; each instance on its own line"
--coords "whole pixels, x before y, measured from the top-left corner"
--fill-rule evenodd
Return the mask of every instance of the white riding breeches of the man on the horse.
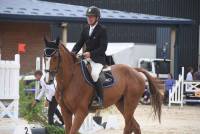
M 96 63 L 92 61 L 90 58 L 85 59 L 85 62 L 89 62 L 92 68 L 91 76 L 94 82 L 97 82 L 99 79 L 99 74 L 101 73 L 101 70 L 103 68 L 103 65 L 101 63 Z

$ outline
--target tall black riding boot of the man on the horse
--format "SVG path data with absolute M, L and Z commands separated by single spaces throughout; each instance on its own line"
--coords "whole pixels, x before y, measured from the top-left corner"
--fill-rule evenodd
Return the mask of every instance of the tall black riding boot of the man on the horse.
M 95 82 L 95 88 L 96 88 L 96 93 L 97 93 L 97 105 L 99 107 L 103 107 L 103 90 L 102 90 L 102 83 L 100 79 L 98 79 L 98 81 Z

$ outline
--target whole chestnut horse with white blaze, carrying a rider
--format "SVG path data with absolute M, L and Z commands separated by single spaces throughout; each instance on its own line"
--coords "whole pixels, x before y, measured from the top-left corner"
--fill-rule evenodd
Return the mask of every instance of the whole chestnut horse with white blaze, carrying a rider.
M 85 82 L 76 56 L 59 43 L 59 39 L 45 39 L 45 44 L 46 82 L 56 77 L 56 99 L 65 122 L 65 133 L 77 134 L 89 113 L 89 104 L 95 91 Z M 140 126 L 133 116 L 145 89 L 145 80 L 139 72 L 143 72 L 149 81 L 154 116 L 158 116 L 160 121 L 162 97 L 156 80 L 143 69 L 135 70 L 122 64 L 112 65 L 111 70 L 117 82 L 112 87 L 102 89 L 103 105 L 104 108 L 116 105 L 125 119 L 124 134 L 141 134 Z

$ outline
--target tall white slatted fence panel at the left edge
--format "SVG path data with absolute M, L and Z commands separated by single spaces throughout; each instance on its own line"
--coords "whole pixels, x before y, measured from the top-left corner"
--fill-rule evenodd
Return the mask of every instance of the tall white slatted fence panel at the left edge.
M 20 57 L 0 60 L 0 118 L 18 118 Z

